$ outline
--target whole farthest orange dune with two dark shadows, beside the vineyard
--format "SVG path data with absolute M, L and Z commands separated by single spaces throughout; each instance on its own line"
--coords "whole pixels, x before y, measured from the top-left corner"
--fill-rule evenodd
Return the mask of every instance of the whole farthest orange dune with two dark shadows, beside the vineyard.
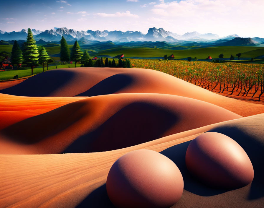
M 241 116 L 264 113 L 263 105 L 227 98 L 169 74 L 151 69 L 56 69 L 37 74 L 20 84 L 0 90 L 0 93 L 22 96 L 95 96 L 113 93 L 162 93 L 202 100 Z

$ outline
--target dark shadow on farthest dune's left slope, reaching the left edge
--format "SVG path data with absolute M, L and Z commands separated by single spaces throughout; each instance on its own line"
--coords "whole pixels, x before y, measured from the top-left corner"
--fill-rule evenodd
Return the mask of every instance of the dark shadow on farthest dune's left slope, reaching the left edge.
M 65 86 L 75 73 L 72 71 L 51 70 L 29 77 L 18 85 L 0 90 L 0 93 L 18 96 L 45 97 Z

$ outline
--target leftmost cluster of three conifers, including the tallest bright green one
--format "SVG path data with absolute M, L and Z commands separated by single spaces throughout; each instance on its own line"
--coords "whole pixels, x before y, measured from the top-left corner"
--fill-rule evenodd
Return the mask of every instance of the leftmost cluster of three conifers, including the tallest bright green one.
M 13 66 L 17 65 L 17 69 L 22 63 L 27 64 L 31 67 L 31 74 L 33 75 L 33 67 L 38 66 L 39 63 L 44 65 L 45 62 L 49 61 L 49 55 L 43 46 L 38 51 L 38 46 L 33 38 L 32 31 L 30 28 L 27 31 L 27 41 L 24 43 L 22 49 L 19 47 L 17 40 L 14 41 L 11 51 L 11 63 Z

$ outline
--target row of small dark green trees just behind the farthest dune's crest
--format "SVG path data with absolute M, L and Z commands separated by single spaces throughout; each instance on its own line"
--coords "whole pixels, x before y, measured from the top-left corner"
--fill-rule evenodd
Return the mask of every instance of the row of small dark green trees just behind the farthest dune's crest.
M 92 59 L 88 59 L 88 61 L 82 60 L 81 67 L 123 67 L 123 68 L 131 68 L 132 65 L 130 63 L 129 59 L 118 59 L 118 61 L 109 60 L 108 58 L 105 58 L 105 61 L 103 60 L 103 57 L 100 59 L 97 59 L 93 61 Z

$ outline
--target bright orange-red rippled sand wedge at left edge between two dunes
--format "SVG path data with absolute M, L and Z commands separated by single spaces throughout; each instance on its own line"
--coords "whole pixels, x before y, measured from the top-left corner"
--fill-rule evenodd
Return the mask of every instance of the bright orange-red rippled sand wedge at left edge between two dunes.
M 0 93 L 0 130 L 85 97 L 22 97 Z

